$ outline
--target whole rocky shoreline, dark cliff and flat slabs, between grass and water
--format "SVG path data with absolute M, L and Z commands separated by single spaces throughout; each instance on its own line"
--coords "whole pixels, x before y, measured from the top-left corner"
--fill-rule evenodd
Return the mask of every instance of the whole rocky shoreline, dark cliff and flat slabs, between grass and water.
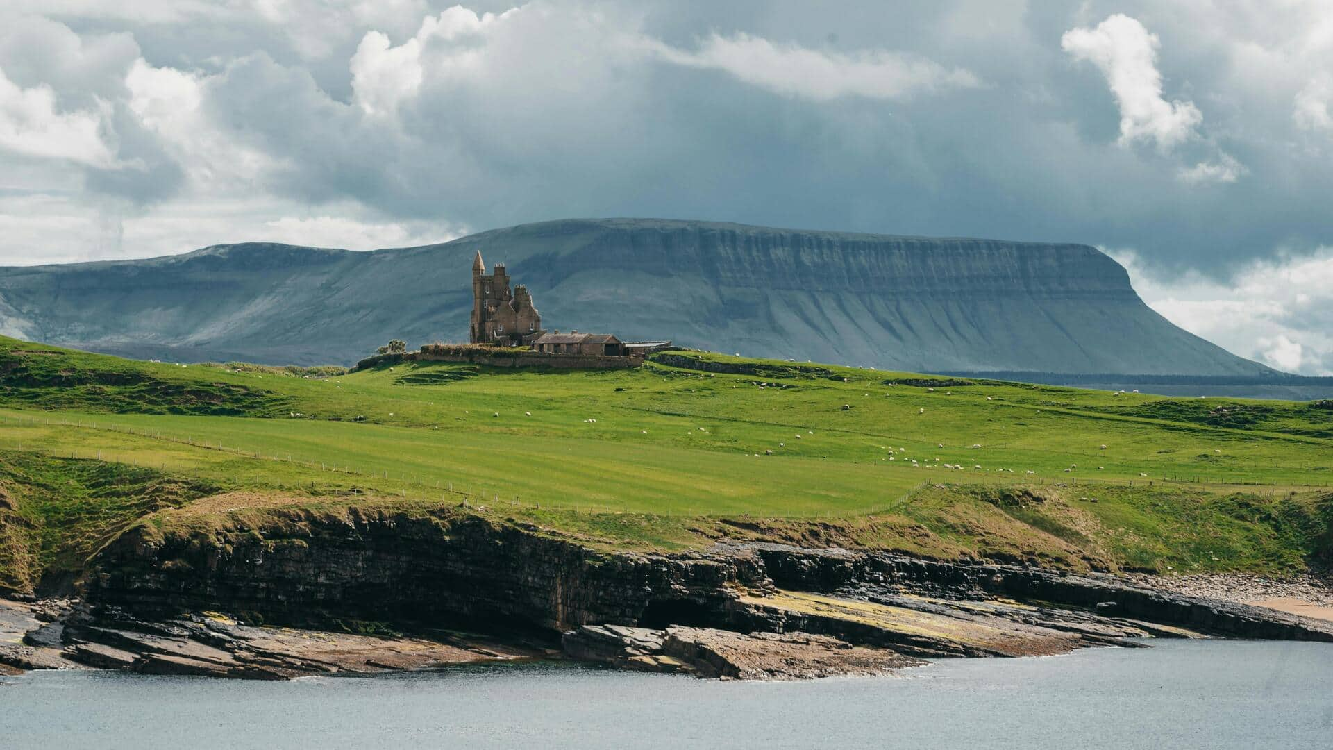
M 0 602 L 0 665 L 288 679 L 569 658 L 804 679 L 1152 638 L 1333 642 L 1333 622 L 1154 579 L 780 544 L 605 551 L 463 511 L 145 527 L 93 570 L 80 601 Z

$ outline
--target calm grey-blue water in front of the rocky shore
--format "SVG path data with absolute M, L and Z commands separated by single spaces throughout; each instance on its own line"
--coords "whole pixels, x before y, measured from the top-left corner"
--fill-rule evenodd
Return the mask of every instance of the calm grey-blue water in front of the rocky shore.
M 288 683 L 0 678 L 0 747 L 1333 747 L 1333 645 L 1157 642 L 896 678 L 512 665 Z

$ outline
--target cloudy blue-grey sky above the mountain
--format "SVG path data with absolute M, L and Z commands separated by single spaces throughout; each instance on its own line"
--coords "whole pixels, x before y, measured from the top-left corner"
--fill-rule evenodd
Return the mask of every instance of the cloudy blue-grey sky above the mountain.
M 567 216 L 1094 244 L 1329 374 L 1333 5 L 0 3 L 0 263 Z

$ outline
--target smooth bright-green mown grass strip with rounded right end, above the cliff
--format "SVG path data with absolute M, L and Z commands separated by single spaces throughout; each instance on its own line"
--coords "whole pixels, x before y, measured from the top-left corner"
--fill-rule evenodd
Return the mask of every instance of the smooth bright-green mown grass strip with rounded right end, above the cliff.
M 279 483 L 288 467 L 291 483 L 299 483 L 299 476 L 311 480 L 308 466 L 296 471 L 305 462 L 360 472 L 340 484 L 361 483 L 385 492 L 429 492 L 452 484 L 483 498 L 519 496 L 525 503 L 569 508 L 777 516 L 868 512 L 882 508 L 924 479 L 920 470 L 884 464 L 580 438 L 525 436 L 516 442 L 503 434 L 225 416 L 60 414 L 39 419 L 100 426 L 32 428 L 40 434 L 31 434 L 27 443 L 44 444 L 56 454 L 92 456 L 103 450 L 105 458 L 116 460 L 139 456 L 144 464 L 204 467 L 212 475 L 207 466 L 220 459 L 208 455 L 217 452 L 208 448 L 223 446 L 247 454 L 237 459 L 259 454 L 260 459 L 251 462 L 256 467 L 264 464 L 256 468 L 256 475 Z M 112 426 L 140 434 L 107 428 Z M 17 447 L 24 430 L 29 428 L 8 430 L 3 444 Z M 143 432 L 161 439 L 145 438 Z M 183 444 L 187 439 L 197 446 Z M 272 460 L 273 456 L 280 460 Z M 245 471 L 235 463 L 227 460 L 231 470 Z

